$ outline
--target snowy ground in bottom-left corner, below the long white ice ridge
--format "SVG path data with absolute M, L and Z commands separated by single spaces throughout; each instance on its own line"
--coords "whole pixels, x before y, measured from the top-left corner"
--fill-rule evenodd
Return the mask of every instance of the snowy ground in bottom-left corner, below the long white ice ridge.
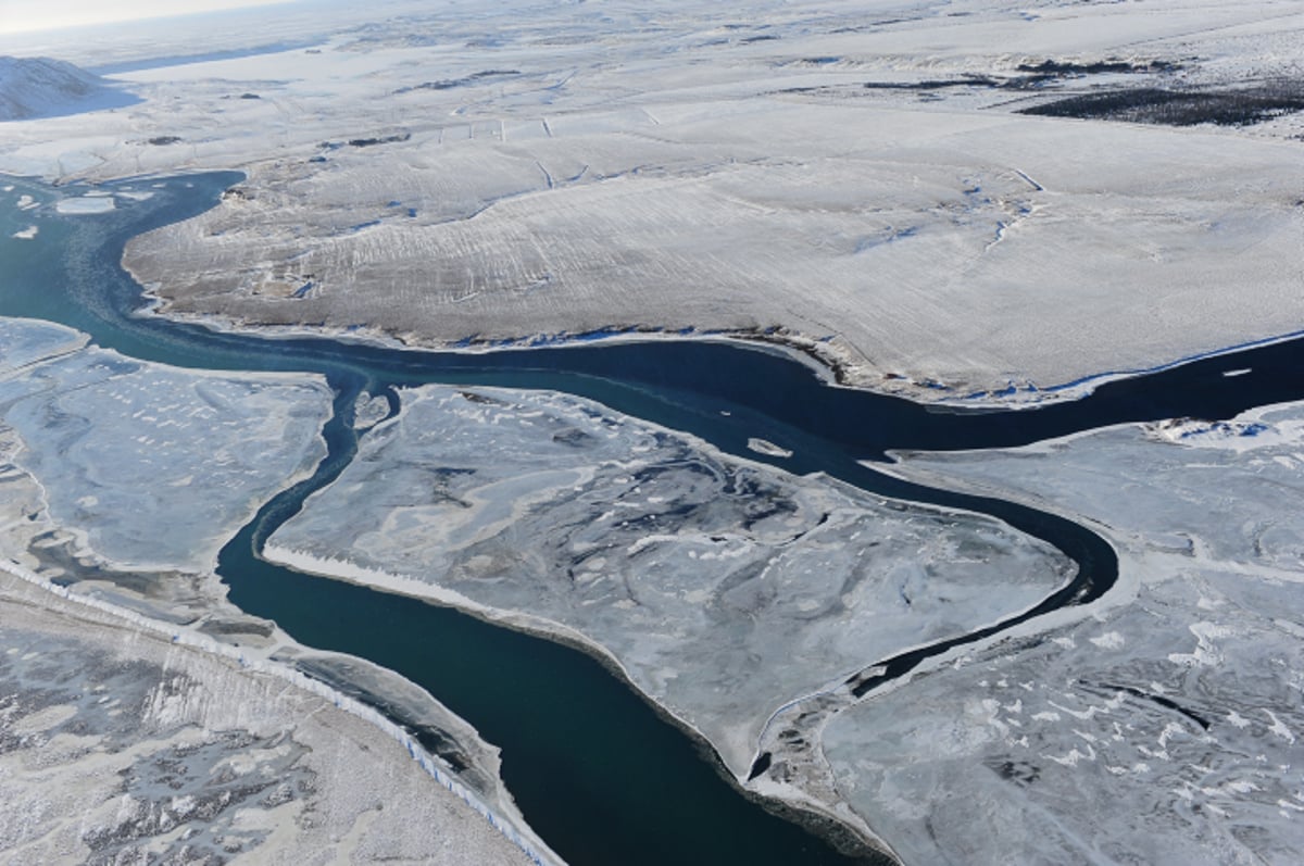
M 269 863 L 559 862 L 374 709 L 12 562 L 0 573 L 4 728 L 16 746 L 4 763 L 20 777 L 39 764 L 42 779 L 5 796 L 10 856 L 70 862 L 149 846 Z M 82 694 L 68 690 L 78 677 Z M 150 762 L 177 775 L 154 779 L 163 771 Z M 126 781 L 106 785 L 106 775 Z

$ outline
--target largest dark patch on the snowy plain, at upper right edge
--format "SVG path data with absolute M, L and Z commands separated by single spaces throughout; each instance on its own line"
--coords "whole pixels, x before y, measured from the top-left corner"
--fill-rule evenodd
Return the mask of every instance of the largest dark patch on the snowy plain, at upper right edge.
M 1124 120 L 1129 123 L 1193 127 L 1247 127 L 1304 110 L 1304 83 L 1274 82 L 1236 90 L 1164 90 L 1138 87 L 1088 93 L 1030 108 L 1024 115 Z

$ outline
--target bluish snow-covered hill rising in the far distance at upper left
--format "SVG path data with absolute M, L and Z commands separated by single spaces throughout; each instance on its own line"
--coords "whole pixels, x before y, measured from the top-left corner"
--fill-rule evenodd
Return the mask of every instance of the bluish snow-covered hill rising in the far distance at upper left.
M 56 117 L 138 102 L 104 78 L 51 57 L 0 57 L 0 121 Z

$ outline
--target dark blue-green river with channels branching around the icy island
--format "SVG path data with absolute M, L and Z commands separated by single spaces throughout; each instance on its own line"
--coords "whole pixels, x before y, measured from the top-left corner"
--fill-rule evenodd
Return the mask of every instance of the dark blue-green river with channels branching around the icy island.
M 1051 610 L 1084 604 L 1118 578 L 1110 545 L 1064 518 L 1013 502 L 892 479 L 861 460 L 888 449 L 1025 445 L 1123 421 L 1241 410 L 1304 396 L 1299 339 L 1192 360 L 1101 385 L 1089 396 L 1018 411 L 939 411 L 822 381 L 777 351 L 742 343 L 655 339 L 493 352 L 386 348 L 318 336 L 228 333 L 141 316 L 141 287 L 121 269 L 124 244 L 211 207 L 233 172 L 136 180 L 143 201 L 117 197 L 102 214 L 64 215 L 69 194 L 12 179 L 14 194 L 47 202 L 0 213 L 0 316 L 40 318 L 87 333 L 147 361 L 211 370 L 323 374 L 335 391 L 329 454 L 313 477 L 269 502 L 223 549 L 219 575 L 245 612 L 275 620 L 300 643 L 351 653 L 425 687 L 502 749 L 502 776 L 533 829 L 575 866 L 589 863 L 846 863 L 803 826 L 739 793 L 704 743 L 694 742 L 587 655 L 432 604 L 304 575 L 259 558 L 263 541 L 353 458 L 356 396 L 428 382 L 565 391 L 692 433 L 722 451 L 797 472 L 822 471 L 874 493 L 982 511 L 1041 537 L 1076 561 L 1076 578 L 1031 610 L 893 659 L 866 659 L 867 694 L 921 661 Z M 126 183 L 126 181 L 123 181 Z M 121 185 L 121 184 L 119 184 Z M 115 184 L 106 184 L 112 192 Z M 14 240 L 29 224 L 39 232 Z M 1251 372 L 1235 377 L 1230 372 Z M 391 399 L 391 403 L 395 403 Z M 747 450 L 780 442 L 788 459 Z M 420 733 L 420 732 L 417 732 Z M 437 751 L 437 743 L 428 743 Z M 754 772 L 762 772 L 762 755 Z M 872 819 L 871 819 L 872 823 Z M 891 841 L 891 840 L 889 840 Z

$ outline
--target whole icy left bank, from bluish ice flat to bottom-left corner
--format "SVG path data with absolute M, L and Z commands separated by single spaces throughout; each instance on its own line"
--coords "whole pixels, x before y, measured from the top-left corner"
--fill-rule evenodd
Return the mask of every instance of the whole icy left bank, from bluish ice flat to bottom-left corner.
M 469 725 L 244 614 L 211 571 L 322 456 L 330 411 L 317 377 L 180 370 L 0 320 L 0 859 L 550 858 Z M 323 685 L 346 681 L 462 769 Z

